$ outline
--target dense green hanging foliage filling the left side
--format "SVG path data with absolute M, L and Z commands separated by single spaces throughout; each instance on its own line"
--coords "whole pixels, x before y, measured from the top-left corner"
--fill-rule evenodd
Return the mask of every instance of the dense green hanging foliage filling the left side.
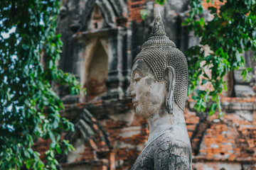
M 57 169 L 55 155 L 73 149 L 60 140 L 62 130 L 74 128 L 60 117 L 63 103 L 51 88 L 55 81 L 79 91 L 75 77 L 55 66 L 63 45 L 56 34 L 59 6 L 53 0 L 0 1 L 0 169 Z M 46 164 L 33 149 L 39 137 L 51 140 Z

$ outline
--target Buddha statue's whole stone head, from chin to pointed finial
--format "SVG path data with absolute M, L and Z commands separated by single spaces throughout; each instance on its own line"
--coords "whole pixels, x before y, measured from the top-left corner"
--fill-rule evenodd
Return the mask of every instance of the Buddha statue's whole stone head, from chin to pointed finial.
M 156 113 L 183 111 L 188 88 L 188 64 L 183 53 L 166 37 L 160 12 L 151 37 L 135 57 L 129 96 L 136 113 L 149 118 Z M 176 106 L 176 107 L 174 107 Z

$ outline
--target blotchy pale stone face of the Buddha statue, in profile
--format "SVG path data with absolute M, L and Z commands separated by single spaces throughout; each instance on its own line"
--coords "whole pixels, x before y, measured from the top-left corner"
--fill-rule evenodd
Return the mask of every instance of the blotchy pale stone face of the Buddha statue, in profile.
M 156 81 L 149 66 L 140 59 L 132 67 L 132 79 L 129 86 L 129 96 L 136 113 L 142 118 L 161 113 L 166 98 L 166 83 Z

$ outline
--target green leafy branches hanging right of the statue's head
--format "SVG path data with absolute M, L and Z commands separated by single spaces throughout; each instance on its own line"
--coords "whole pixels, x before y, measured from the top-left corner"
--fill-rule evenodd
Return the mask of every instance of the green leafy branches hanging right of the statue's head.
M 202 17 L 201 3 L 202 0 L 191 0 L 189 17 L 183 23 L 183 26 L 188 26 L 188 30 L 193 30 L 201 38 L 200 45 L 191 47 L 186 52 L 189 68 L 188 92 L 191 94 L 199 84 L 209 83 L 213 91 L 196 91 L 193 96 L 196 100 L 195 108 L 197 111 L 205 111 L 206 103 L 211 99 L 213 103 L 210 106 L 210 115 L 217 110 L 221 115 L 223 113 L 219 94 L 227 90 L 227 82 L 223 77 L 227 72 L 245 66 L 242 52 L 256 51 L 256 1 L 227 0 L 221 6 L 220 13 L 216 13 L 216 8 L 208 8 L 213 15 L 212 21 L 205 21 Z M 208 55 L 205 55 L 205 45 L 211 50 Z M 210 75 L 206 73 L 206 69 L 210 70 Z M 242 71 L 244 80 L 251 70 L 245 68 Z M 203 76 L 203 81 L 199 82 L 199 76 Z

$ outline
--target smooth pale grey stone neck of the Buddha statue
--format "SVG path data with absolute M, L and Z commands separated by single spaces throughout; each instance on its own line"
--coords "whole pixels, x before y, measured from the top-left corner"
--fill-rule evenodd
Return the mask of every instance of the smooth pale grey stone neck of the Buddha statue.
M 148 118 L 149 121 L 149 139 L 148 143 L 155 140 L 159 135 L 166 132 L 166 130 L 170 130 L 171 127 L 175 125 L 186 125 L 185 119 L 183 115 L 183 111 L 181 111 L 178 106 L 174 106 L 174 111 L 172 114 L 167 113 L 165 109 L 160 111 L 160 113 L 156 113 Z

